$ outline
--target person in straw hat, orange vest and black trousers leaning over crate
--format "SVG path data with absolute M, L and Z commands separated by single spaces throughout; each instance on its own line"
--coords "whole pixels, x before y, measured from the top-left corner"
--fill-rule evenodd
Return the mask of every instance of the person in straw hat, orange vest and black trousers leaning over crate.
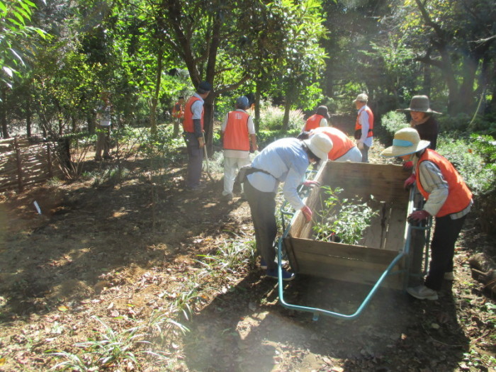
M 414 128 L 403 128 L 395 133 L 393 146 L 381 153 L 384 157 L 413 162 L 417 188 L 426 202 L 422 210 L 408 216 L 408 221 L 436 218 L 429 274 L 423 285 L 407 288 L 410 295 L 420 300 L 437 300 L 443 279 L 453 280 L 455 242 L 473 204 L 472 193 L 458 171 L 447 159 L 428 149 L 429 144 L 420 140 Z

